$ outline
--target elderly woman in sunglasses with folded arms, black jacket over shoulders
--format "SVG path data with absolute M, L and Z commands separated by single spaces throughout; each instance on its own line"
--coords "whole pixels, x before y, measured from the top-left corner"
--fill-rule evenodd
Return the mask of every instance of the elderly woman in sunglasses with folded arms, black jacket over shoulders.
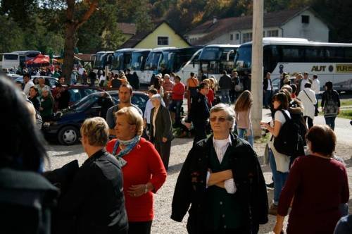
M 259 224 L 268 222 L 268 196 L 256 152 L 231 133 L 233 125 L 230 106 L 213 106 L 213 135 L 194 144 L 184 161 L 171 218 L 180 222 L 189 211 L 189 233 L 258 233 Z

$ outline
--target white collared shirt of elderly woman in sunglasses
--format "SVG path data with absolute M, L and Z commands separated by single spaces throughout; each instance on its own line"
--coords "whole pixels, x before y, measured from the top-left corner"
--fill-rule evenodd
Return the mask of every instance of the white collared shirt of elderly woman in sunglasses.
M 216 156 L 218 156 L 219 162 L 221 164 L 222 159 L 224 158 L 225 152 L 227 150 L 227 147 L 229 147 L 229 145 L 232 145 L 231 135 L 229 134 L 229 137 L 227 137 L 224 140 L 215 140 L 213 137 L 213 145 L 214 145 Z M 206 175 L 207 185 L 208 185 L 209 178 L 210 178 L 210 172 L 208 172 Z M 227 191 L 227 193 L 230 193 L 230 194 L 234 194 L 236 192 L 237 187 L 234 184 L 233 178 L 225 180 L 225 190 Z

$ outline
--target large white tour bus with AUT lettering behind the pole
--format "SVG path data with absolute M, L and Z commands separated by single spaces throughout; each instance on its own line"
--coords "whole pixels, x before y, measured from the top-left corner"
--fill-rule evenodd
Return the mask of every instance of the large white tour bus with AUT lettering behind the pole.
M 235 58 L 239 75 L 251 73 L 252 42 L 241 44 Z M 328 80 L 334 89 L 352 91 L 352 44 L 309 42 L 302 38 L 263 38 L 263 76 L 279 83 L 282 72 L 318 75 L 320 90 Z

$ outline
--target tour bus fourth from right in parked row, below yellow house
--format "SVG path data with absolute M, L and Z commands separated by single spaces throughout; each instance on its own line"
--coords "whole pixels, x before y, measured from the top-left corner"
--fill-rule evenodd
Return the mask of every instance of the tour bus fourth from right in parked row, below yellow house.
M 146 65 L 146 58 L 148 58 L 150 51 L 151 49 L 138 49 L 132 52 L 132 59 L 130 63 L 131 73 L 136 73 L 139 77 L 139 82 L 141 83 L 147 83 L 147 75 L 144 73 L 144 67 Z

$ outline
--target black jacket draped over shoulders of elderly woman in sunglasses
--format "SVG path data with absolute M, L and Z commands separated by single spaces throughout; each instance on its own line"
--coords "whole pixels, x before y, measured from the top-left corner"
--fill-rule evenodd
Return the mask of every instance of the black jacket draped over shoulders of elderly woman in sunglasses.
M 236 135 L 231 135 L 231 140 L 232 145 L 229 145 L 227 150 L 232 151 L 229 160 L 237 187 L 234 196 L 247 204 L 243 215 L 247 217 L 249 228 L 256 232 L 259 224 L 268 222 L 268 195 L 265 180 L 256 152 L 249 143 Z M 177 178 L 171 218 L 180 222 L 189 210 L 187 221 L 189 233 L 204 233 L 204 214 L 208 210 L 206 174 L 211 147 L 213 147 L 213 136 L 194 145 Z M 190 204 L 191 209 L 189 209 Z

